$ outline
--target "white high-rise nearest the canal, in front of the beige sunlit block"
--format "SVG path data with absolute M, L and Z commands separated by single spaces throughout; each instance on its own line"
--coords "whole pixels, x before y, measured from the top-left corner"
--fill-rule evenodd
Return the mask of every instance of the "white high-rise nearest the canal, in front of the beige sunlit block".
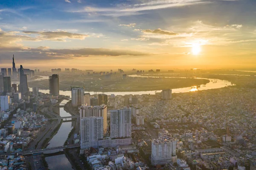
M 103 118 L 81 118 L 80 135 L 81 149 L 97 147 L 97 141 L 103 138 Z

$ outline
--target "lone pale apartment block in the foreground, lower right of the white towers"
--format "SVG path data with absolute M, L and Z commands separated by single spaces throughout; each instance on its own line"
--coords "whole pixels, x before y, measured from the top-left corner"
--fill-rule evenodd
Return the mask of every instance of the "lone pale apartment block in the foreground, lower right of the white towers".
M 176 158 L 176 140 L 168 133 L 160 133 L 158 139 L 152 140 L 151 164 L 168 164 Z

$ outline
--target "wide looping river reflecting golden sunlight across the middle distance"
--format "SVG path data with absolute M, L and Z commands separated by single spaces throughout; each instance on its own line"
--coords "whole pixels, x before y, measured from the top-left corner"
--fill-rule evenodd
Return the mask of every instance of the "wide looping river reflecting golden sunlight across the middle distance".
M 165 74 L 167 75 L 167 74 Z M 170 74 L 172 75 L 172 74 Z M 129 77 L 151 77 L 151 78 L 159 78 L 159 77 L 154 77 L 154 76 L 148 76 L 148 75 L 128 75 Z M 161 77 L 164 78 L 164 77 Z M 165 78 L 185 78 L 185 77 L 165 77 Z M 220 80 L 220 79 L 212 79 L 212 78 L 198 78 L 198 79 L 206 79 L 209 80 L 210 82 L 207 83 L 206 85 L 201 85 L 199 88 L 196 88 L 194 86 L 192 87 L 184 87 L 184 88 L 177 88 L 177 89 L 172 89 L 173 93 L 180 93 L 180 92 L 191 92 L 191 91 L 196 91 L 196 90 L 207 90 L 207 89 L 218 89 L 226 86 L 232 86 L 230 81 L 226 80 Z M 32 88 L 30 88 L 30 91 Z M 43 93 L 49 93 L 49 89 L 40 89 L 40 92 Z M 104 93 L 106 95 L 145 95 L 145 94 L 151 94 L 154 95 L 155 93 L 159 93 L 162 90 L 152 90 L 152 91 L 139 91 L 139 92 L 85 92 L 85 93 L 90 93 L 92 94 L 100 94 Z M 62 91 L 60 90 L 60 95 L 68 95 L 71 96 L 71 91 Z

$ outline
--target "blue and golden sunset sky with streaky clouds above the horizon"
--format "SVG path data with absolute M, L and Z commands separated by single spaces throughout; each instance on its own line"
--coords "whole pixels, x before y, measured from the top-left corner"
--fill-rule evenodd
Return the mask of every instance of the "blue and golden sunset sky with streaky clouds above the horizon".
M 256 0 L 0 0 L 0 67 L 256 69 Z

